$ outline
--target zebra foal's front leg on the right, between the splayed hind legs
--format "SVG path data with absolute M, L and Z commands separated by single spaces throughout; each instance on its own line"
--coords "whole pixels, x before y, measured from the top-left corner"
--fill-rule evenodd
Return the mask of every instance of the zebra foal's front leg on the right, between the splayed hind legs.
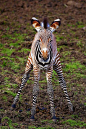
M 46 72 L 47 92 L 48 92 L 49 99 L 50 99 L 50 107 L 51 107 L 50 112 L 51 112 L 51 115 L 52 115 L 52 119 L 56 119 L 54 102 L 53 102 L 52 72 L 53 72 L 52 67 Z

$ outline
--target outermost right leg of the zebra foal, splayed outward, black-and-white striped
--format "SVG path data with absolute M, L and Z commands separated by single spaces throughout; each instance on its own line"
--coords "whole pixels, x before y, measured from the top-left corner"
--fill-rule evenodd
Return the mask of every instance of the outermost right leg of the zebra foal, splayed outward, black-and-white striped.
M 73 111 L 73 105 L 69 99 L 68 93 L 67 93 L 67 88 L 66 88 L 66 83 L 63 77 L 63 73 L 62 73 L 62 67 L 61 67 L 61 63 L 60 63 L 60 57 L 59 54 L 57 53 L 55 62 L 54 62 L 54 70 L 57 72 L 58 77 L 59 77 L 59 83 L 64 91 L 65 97 L 67 99 L 68 102 L 68 107 L 70 111 Z

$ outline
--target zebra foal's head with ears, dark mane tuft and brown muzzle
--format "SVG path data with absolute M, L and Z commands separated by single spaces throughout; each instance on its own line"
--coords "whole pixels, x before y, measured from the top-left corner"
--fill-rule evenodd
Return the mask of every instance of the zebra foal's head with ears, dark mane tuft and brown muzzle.
M 60 26 L 60 19 L 56 19 L 51 25 L 44 18 L 43 22 L 40 23 L 35 17 L 32 18 L 31 23 L 38 32 L 38 38 L 36 41 L 36 59 L 39 64 L 45 66 L 52 60 L 52 33 Z

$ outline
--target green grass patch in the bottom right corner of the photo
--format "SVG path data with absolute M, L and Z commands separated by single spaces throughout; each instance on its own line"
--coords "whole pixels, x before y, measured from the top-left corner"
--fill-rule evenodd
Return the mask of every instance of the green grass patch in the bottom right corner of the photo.
M 78 126 L 78 127 L 86 127 L 86 123 L 84 123 L 83 121 L 80 120 L 72 120 L 72 119 L 68 119 L 66 121 L 62 122 L 63 124 L 69 124 L 71 127 L 74 126 Z

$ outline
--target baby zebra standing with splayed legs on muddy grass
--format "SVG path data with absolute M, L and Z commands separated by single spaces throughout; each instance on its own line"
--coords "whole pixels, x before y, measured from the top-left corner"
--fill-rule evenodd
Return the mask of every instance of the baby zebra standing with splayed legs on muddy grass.
M 57 51 L 56 39 L 52 33 L 60 26 L 61 21 L 60 19 L 56 19 L 49 26 L 49 23 L 47 22 L 46 18 L 44 18 L 42 23 L 40 23 L 38 19 L 33 17 L 31 23 L 33 27 L 37 30 L 37 33 L 32 43 L 31 52 L 29 54 L 25 68 L 25 74 L 22 78 L 20 89 L 16 97 L 14 98 L 12 109 L 16 107 L 16 102 L 19 98 L 21 90 L 24 87 L 27 80 L 29 79 L 30 71 L 33 69 L 34 87 L 33 87 L 33 106 L 31 109 L 31 120 L 34 120 L 34 115 L 36 113 L 36 99 L 39 91 L 40 72 L 41 70 L 44 70 L 47 79 L 47 93 L 50 99 L 50 112 L 52 115 L 52 119 L 55 120 L 56 116 L 55 116 L 55 108 L 53 102 L 53 87 L 52 87 L 53 70 L 55 70 L 56 73 L 58 74 L 59 83 L 67 99 L 69 110 L 73 111 L 73 106 L 69 99 L 66 89 L 66 83 L 62 73 L 60 57 Z

